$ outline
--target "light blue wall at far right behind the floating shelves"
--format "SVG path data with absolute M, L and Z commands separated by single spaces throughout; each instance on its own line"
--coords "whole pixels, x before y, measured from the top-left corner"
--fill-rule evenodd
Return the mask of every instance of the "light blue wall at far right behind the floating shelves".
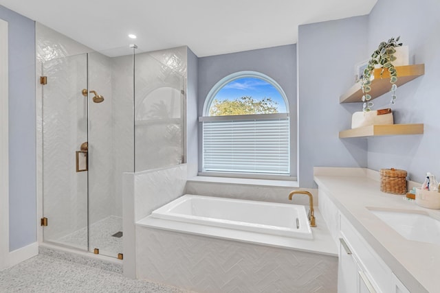
M 425 64 L 425 75 L 397 89 L 395 123 L 423 123 L 423 135 L 369 138 L 371 169 L 405 169 L 423 182 L 426 172 L 440 177 L 440 1 L 379 0 L 369 15 L 369 51 L 382 40 L 401 36 L 409 46 L 410 63 Z M 393 17 L 390 17 L 392 15 Z M 386 94 L 374 102 L 388 106 Z

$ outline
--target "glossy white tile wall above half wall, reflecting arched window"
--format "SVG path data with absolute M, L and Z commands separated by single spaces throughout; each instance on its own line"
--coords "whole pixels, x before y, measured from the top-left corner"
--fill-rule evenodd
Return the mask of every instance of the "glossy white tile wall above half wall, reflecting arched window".
M 137 54 L 135 64 L 135 170 L 177 165 L 184 161 L 186 47 Z

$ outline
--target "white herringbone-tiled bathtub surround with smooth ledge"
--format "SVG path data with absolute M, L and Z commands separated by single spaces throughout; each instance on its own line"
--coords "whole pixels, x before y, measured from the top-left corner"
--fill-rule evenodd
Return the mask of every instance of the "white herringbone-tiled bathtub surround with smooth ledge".
M 315 212 L 313 240 L 146 217 L 135 228 L 137 278 L 212 293 L 336 292 L 336 245 Z

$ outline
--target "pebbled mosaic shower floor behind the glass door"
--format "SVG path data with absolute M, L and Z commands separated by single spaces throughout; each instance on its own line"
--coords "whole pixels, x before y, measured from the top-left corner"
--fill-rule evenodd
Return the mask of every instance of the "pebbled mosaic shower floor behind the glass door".
M 100 255 L 117 257 L 122 253 L 122 237 L 113 237 L 115 233 L 122 231 L 122 218 L 111 215 L 90 225 L 90 251 L 99 249 Z M 81 247 L 87 243 L 87 227 L 81 228 L 56 240 L 61 244 Z

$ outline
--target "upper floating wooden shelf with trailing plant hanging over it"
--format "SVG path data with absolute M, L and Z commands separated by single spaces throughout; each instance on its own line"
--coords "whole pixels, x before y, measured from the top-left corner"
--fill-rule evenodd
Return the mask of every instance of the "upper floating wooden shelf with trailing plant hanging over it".
M 401 86 L 402 84 L 406 84 L 410 80 L 414 80 L 419 76 L 425 74 L 425 65 L 405 65 L 405 66 L 397 66 L 395 67 L 397 70 L 397 86 Z M 375 69 L 372 76 L 374 79 L 371 81 L 371 99 L 375 99 L 376 97 L 380 97 L 384 93 L 387 93 L 391 89 L 390 83 L 390 73 L 388 69 L 385 69 L 384 73 L 382 73 L 382 78 L 380 76 L 380 72 L 382 69 Z M 351 86 L 351 88 L 339 97 L 340 103 L 353 103 L 353 102 L 362 102 L 362 89 L 360 88 L 360 82 Z

